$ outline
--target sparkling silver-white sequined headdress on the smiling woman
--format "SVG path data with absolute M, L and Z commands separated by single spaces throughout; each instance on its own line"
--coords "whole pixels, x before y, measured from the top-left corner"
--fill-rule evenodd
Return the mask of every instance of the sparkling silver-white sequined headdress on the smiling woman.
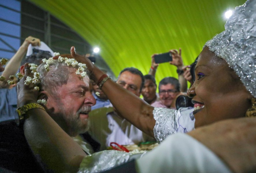
M 225 31 L 205 46 L 225 59 L 246 89 L 256 97 L 256 0 L 248 0 L 236 7 L 225 24 Z

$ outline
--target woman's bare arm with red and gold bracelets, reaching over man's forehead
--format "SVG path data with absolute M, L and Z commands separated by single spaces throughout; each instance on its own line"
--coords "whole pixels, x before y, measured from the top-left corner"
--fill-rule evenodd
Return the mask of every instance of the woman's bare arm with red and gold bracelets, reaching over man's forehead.
M 74 46 L 71 47 L 70 52 L 73 58 L 87 65 L 88 70 L 91 72 L 90 78 L 98 83 L 104 73 L 92 64 L 88 58 L 76 54 Z M 123 118 L 130 121 L 137 128 L 154 137 L 153 129 L 156 123 L 153 117 L 154 107 L 110 79 L 103 84 L 102 91 L 107 95 L 119 115 L 122 115 Z

